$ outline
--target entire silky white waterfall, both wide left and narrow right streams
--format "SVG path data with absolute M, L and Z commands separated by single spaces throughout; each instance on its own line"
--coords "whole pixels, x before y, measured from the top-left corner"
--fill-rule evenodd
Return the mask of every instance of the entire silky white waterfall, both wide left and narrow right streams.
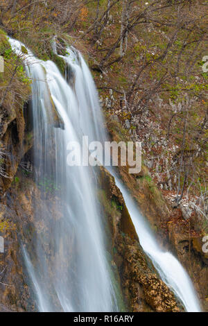
M 10 44 L 21 53 L 21 42 L 10 39 Z M 38 232 L 34 252 L 24 248 L 24 256 L 40 311 L 117 311 L 96 204 L 94 171 L 87 166 L 67 166 L 69 141 L 81 141 L 87 135 L 89 141 L 103 142 L 107 137 L 85 60 L 75 49 L 69 48 L 67 53 L 60 55 L 67 63 L 65 79 L 53 62 L 38 60 L 29 50 L 28 54 L 21 53 L 28 77 L 33 80 L 35 180 L 46 196 L 44 205 L 35 212 Z M 112 169 L 110 173 L 123 194 L 141 246 L 162 280 L 187 311 L 200 311 L 187 272 L 171 253 L 159 248 L 121 180 Z M 53 203 L 51 187 L 57 192 Z M 55 220 L 54 207 L 59 212 Z

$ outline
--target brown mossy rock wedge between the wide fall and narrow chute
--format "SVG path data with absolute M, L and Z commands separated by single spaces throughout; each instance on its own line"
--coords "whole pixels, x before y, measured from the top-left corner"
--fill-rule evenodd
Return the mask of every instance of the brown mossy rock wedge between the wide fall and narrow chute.
M 114 178 L 103 167 L 98 195 L 107 221 L 107 250 L 116 266 L 125 305 L 130 311 L 180 311 L 173 293 L 159 279 L 144 253 L 132 224 L 123 196 Z

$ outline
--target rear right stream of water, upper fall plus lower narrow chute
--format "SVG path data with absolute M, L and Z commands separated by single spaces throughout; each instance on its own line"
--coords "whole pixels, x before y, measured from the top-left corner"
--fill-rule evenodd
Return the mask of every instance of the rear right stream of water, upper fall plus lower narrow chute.
M 101 128 L 104 123 L 101 124 L 101 109 L 98 103 L 98 94 L 96 92 L 94 80 L 92 79 L 92 75 L 90 74 L 90 71 L 85 64 L 82 56 L 79 53 L 75 55 L 75 53 L 70 49 L 67 49 L 67 52 L 69 52 L 70 55 L 64 59 L 67 61 L 71 69 L 76 69 L 75 89 L 76 94 L 78 95 L 78 99 L 82 101 L 83 98 L 83 94 L 79 93 L 80 89 L 82 89 L 82 87 L 79 86 L 79 83 L 84 83 L 85 87 L 83 87 L 83 89 L 87 89 L 88 97 L 91 99 L 91 107 L 96 109 L 96 111 L 94 111 L 94 119 L 92 123 L 92 120 L 89 121 L 89 112 L 87 111 L 86 104 L 83 102 L 80 103 L 80 108 L 85 108 L 84 111 L 86 114 L 85 119 L 81 119 L 82 123 L 84 123 L 83 130 L 85 130 L 85 135 L 90 135 L 92 128 L 95 128 L 95 126 L 100 126 L 100 128 L 96 130 L 96 140 L 99 140 L 101 143 L 103 143 L 105 140 L 107 140 L 107 137 L 105 135 L 105 130 Z M 95 140 L 95 138 L 92 138 L 92 140 Z M 107 167 L 107 169 L 109 168 Z M 189 275 L 184 270 L 180 262 L 177 261 L 177 259 L 171 255 L 171 253 L 163 252 L 159 248 L 157 241 L 155 240 L 154 235 L 148 226 L 148 223 L 146 223 L 144 217 L 141 216 L 139 209 L 130 197 L 130 194 L 128 194 L 128 191 L 125 189 L 114 170 L 109 170 L 110 173 L 114 175 L 116 185 L 119 187 L 121 193 L 123 194 L 125 205 L 128 208 L 132 222 L 135 225 L 141 246 L 153 261 L 153 264 L 157 269 L 160 277 L 175 293 L 177 298 L 179 298 L 187 311 L 200 311 L 200 304 L 198 302 L 197 294 L 193 288 L 193 285 L 191 284 Z

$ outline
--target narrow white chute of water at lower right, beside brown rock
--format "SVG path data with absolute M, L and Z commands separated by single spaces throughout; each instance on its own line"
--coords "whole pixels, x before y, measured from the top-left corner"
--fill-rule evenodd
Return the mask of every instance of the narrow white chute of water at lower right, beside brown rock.
M 189 275 L 180 262 L 170 253 L 164 252 L 150 230 L 148 223 L 139 212 L 135 202 L 128 194 L 121 181 L 116 178 L 116 185 L 119 187 L 125 200 L 125 205 L 135 225 L 140 244 L 148 257 L 150 257 L 160 277 L 167 286 L 175 293 L 175 296 L 182 302 L 188 312 L 200 312 L 200 304 L 196 291 L 191 283 Z

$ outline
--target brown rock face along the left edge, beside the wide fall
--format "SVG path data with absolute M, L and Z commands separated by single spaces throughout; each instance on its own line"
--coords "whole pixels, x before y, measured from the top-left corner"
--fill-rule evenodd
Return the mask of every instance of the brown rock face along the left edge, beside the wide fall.
M 28 106 L 2 107 L 0 124 L 0 144 L 4 153 L 0 162 L 4 175 L 0 178 L 0 235 L 4 240 L 4 252 L 0 253 L 0 311 L 33 311 L 35 304 L 26 285 L 21 240 L 30 241 L 35 185 L 32 187 L 26 181 L 21 188 L 21 175 L 17 176 L 22 158 L 33 146 Z

